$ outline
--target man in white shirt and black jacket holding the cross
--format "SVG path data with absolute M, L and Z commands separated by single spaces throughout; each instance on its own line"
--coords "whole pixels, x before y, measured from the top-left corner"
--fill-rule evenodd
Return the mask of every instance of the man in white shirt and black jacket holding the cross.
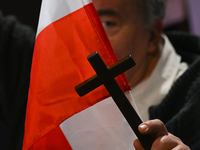
M 118 59 L 131 54 L 136 62 L 125 75 L 142 120 L 164 123 L 139 126 L 157 138 L 152 149 L 200 149 L 199 37 L 169 35 L 171 44 L 163 34 L 165 0 L 93 3 Z M 134 145 L 142 149 L 138 140 Z

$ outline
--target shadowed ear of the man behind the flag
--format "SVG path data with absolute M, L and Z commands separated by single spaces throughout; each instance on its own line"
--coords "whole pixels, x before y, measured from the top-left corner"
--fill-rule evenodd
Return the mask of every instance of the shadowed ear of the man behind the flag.
M 155 53 L 159 50 L 159 42 L 161 38 L 161 34 L 163 31 L 163 23 L 161 19 L 157 19 L 154 23 L 150 26 L 150 36 L 149 36 L 149 53 Z

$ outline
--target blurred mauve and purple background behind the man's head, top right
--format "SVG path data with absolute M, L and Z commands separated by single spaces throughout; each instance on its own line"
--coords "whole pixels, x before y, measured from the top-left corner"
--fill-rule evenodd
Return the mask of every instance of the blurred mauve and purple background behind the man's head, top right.
M 180 30 L 200 35 L 200 0 L 167 0 L 165 31 Z

